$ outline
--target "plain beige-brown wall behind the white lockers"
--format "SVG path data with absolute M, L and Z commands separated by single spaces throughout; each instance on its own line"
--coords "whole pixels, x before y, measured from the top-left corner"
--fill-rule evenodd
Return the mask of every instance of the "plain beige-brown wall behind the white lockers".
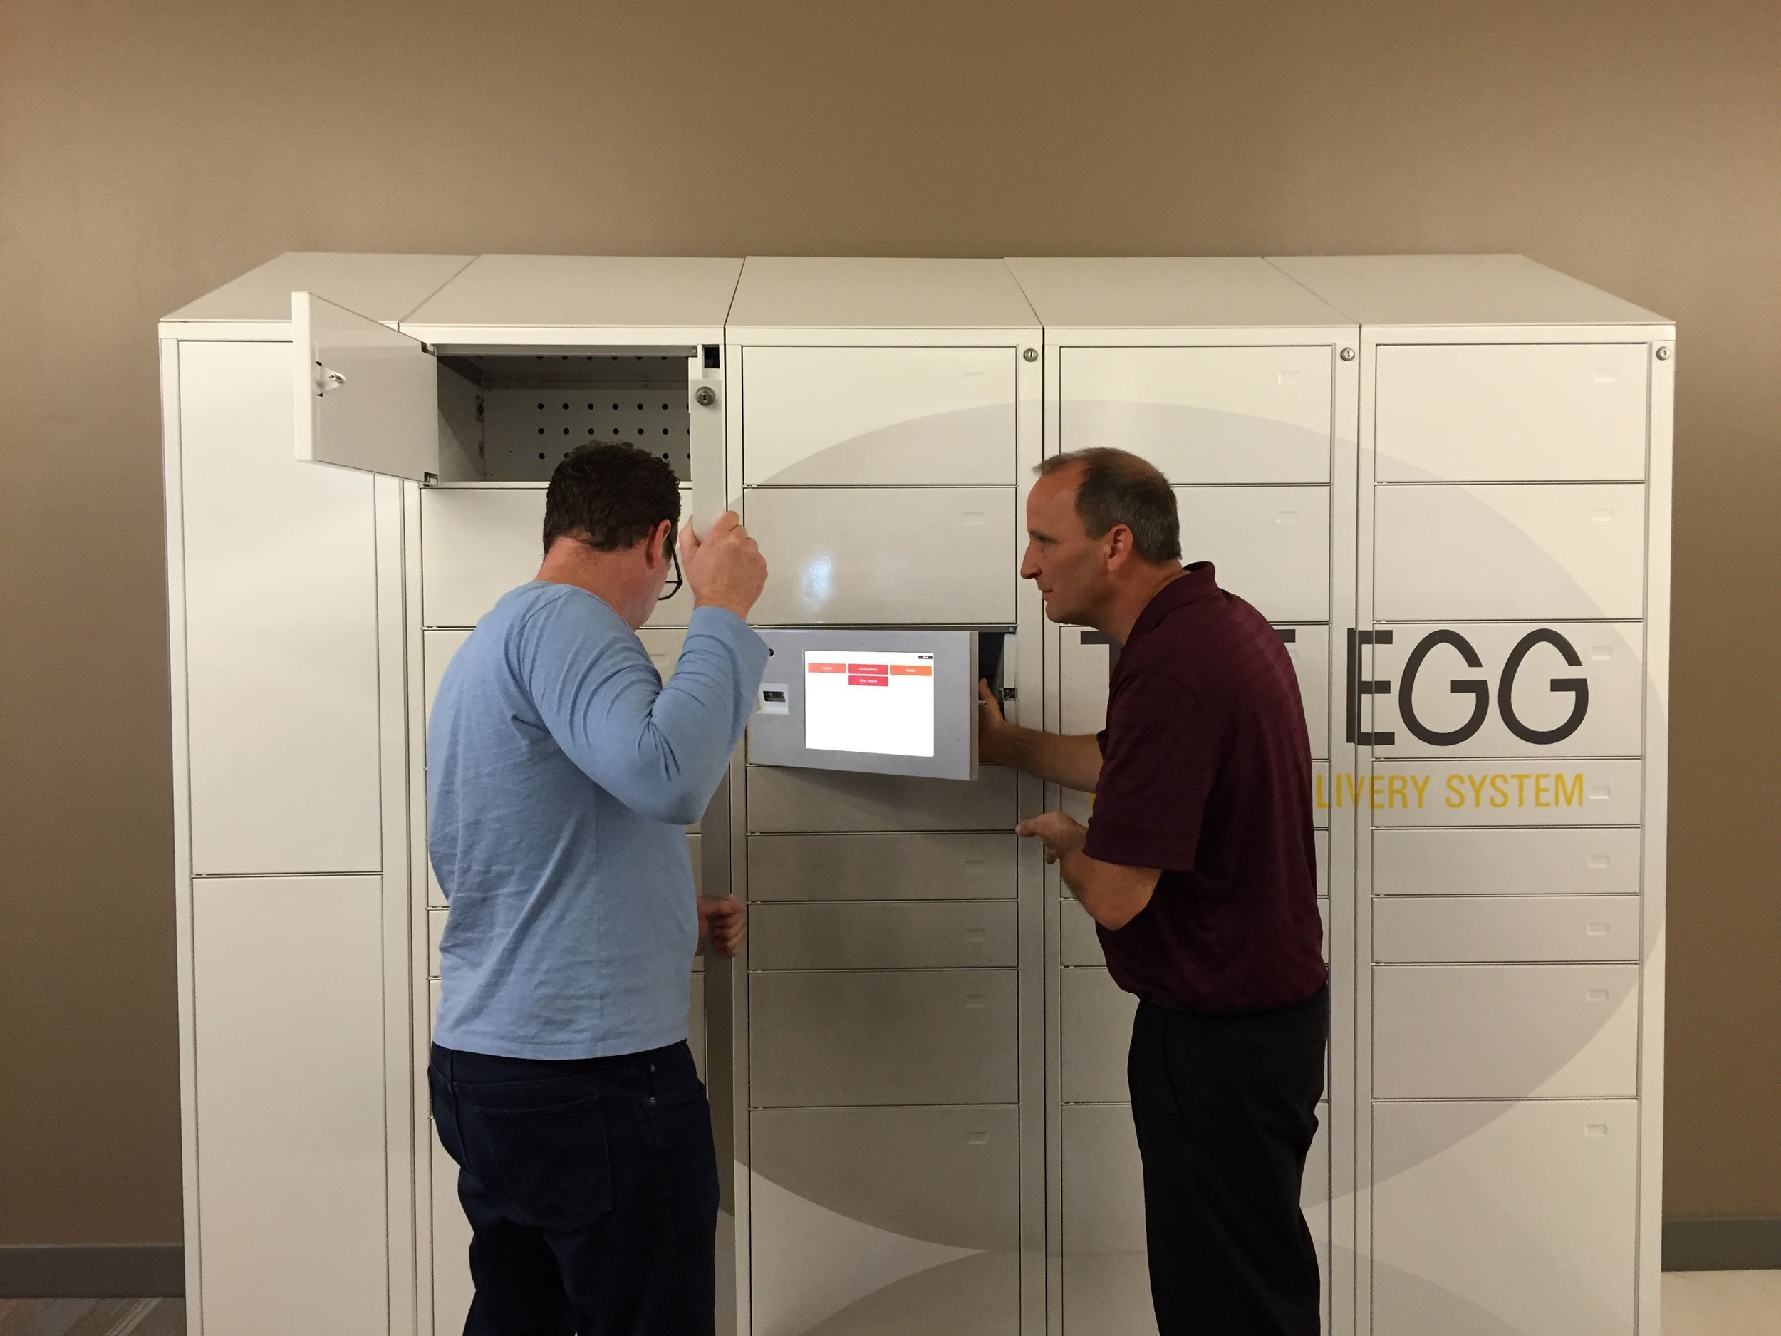
M 1525 251 L 1672 315 L 1669 1213 L 1781 1215 L 1781 5 L 0 5 L 0 1243 L 180 1233 L 159 314 L 283 249 Z

